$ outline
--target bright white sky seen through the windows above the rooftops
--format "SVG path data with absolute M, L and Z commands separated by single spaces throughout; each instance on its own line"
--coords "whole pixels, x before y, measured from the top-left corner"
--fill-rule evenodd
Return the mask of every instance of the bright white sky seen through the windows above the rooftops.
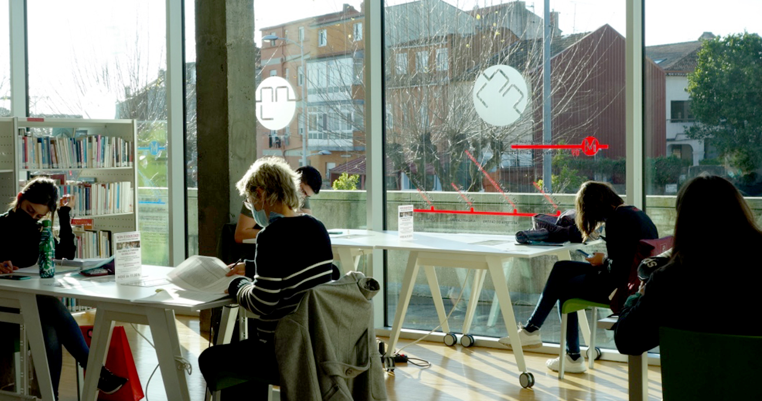
M 442 1 L 464 11 L 501 3 L 500 0 Z M 388 0 L 385 5 L 404 2 Z M 259 29 L 263 27 L 335 12 L 341 10 L 344 3 L 360 9 L 361 1 L 256 0 L 255 41 L 261 44 Z M 30 95 L 43 97 L 41 88 L 46 86 L 59 88 L 58 98 L 65 98 L 69 91 L 80 93 L 72 80 L 77 68 L 94 70 L 104 60 L 110 60 L 112 65 L 117 60 L 129 61 L 136 47 L 142 49 L 140 58 L 147 65 L 140 71 L 142 81 L 155 79 L 158 70 L 166 65 L 164 5 L 165 2 L 159 0 L 28 0 Z M 526 5 L 543 15 L 543 0 L 527 0 Z M 560 13 L 559 24 L 564 34 L 587 32 L 610 24 L 625 35 L 625 5 L 626 0 L 550 0 L 551 9 Z M 194 0 L 186 0 L 185 7 L 186 60 L 190 62 L 196 59 Z M 743 30 L 762 33 L 760 14 L 760 0 L 646 0 L 645 44 L 692 41 L 705 31 L 723 36 Z M 9 75 L 7 21 L 8 0 L 0 0 L 0 80 L 7 80 Z M 0 91 L 8 91 L 8 84 L 4 86 L 0 81 Z M 102 88 L 87 92 L 85 107 L 93 111 L 88 117 L 113 118 L 114 93 Z M 0 100 L 0 107 L 5 103 Z

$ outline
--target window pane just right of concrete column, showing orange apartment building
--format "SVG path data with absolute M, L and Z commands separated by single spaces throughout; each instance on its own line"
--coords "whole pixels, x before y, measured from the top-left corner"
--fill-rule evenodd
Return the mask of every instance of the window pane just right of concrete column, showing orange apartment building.
M 251 160 L 280 156 L 294 168 L 306 160 L 319 170 L 322 190 L 309 202 L 313 215 L 327 228 L 366 227 L 361 3 L 299 0 L 283 12 L 283 5 L 255 2 L 258 46 L 265 35 L 282 38 L 274 40 L 274 46 L 261 46 L 257 76 L 269 79 L 271 69 L 296 72 L 283 77 L 293 90 L 296 110 L 281 127 L 258 122 L 257 154 L 251 154 Z M 286 40 L 286 31 L 298 36 Z M 357 176 L 356 184 L 332 191 L 342 173 Z

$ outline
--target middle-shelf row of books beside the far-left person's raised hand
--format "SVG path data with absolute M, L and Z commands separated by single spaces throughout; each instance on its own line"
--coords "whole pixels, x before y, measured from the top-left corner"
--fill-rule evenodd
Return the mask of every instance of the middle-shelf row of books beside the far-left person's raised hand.
M 130 181 L 118 183 L 86 183 L 67 181 L 59 186 L 61 196 L 74 199 L 72 216 L 111 215 L 132 213 L 135 189 Z

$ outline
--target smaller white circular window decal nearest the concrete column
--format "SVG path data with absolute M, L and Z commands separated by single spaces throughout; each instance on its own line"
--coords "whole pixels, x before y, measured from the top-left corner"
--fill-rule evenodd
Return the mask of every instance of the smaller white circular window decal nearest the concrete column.
M 257 87 L 255 108 L 257 120 L 264 128 L 285 128 L 296 111 L 296 94 L 285 79 L 269 77 Z

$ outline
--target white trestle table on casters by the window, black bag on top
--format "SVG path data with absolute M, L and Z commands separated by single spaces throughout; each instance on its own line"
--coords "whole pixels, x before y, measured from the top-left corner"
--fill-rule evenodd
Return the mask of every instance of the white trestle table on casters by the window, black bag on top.
M 488 273 L 492 282 L 495 283 L 495 295 L 501 307 L 501 312 L 505 325 L 507 326 L 508 336 L 511 337 L 511 344 L 514 344 L 514 355 L 519 371 L 522 372 L 522 384 L 533 383 L 532 374 L 527 372 L 527 366 L 523 358 L 523 351 L 520 347 L 520 340 L 514 317 L 513 307 L 511 306 L 511 294 L 507 289 L 507 281 L 503 270 L 503 263 L 515 257 L 532 258 L 543 255 L 555 255 L 561 260 L 571 259 L 570 250 L 583 246 L 581 243 L 573 243 L 563 247 L 546 246 L 527 246 L 515 243 L 515 237 L 512 235 L 489 235 L 489 234 L 442 234 L 442 233 L 414 233 L 412 240 L 400 240 L 396 231 L 360 231 L 352 230 L 351 234 L 355 237 L 341 236 L 331 237 L 331 245 L 335 248 L 351 249 L 353 246 L 360 249 L 380 249 L 380 250 L 406 250 L 410 253 L 408 256 L 405 275 L 402 279 L 402 290 L 399 294 L 399 303 L 392 323 L 392 334 L 390 335 L 389 352 L 394 352 L 399 340 L 399 333 L 402 329 L 402 322 L 405 319 L 405 313 L 410 302 L 415 277 L 418 275 L 418 269 L 423 266 L 426 278 L 431 288 L 431 295 L 434 298 L 434 307 L 437 310 L 437 316 L 442 323 L 444 333 L 450 333 L 450 326 L 447 323 L 447 313 L 444 310 L 440 287 L 437 281 L 437 275 L 434 272 L 434 266 L 442 267 L 460 267 L 466 269 L 476 269 L 475 278 L 472 285 L 472 291 L 469 299 L 469 305 L 466 310 L 466 321 L 463 326 L 463 332 L 467 333 L 470 329 L 472 319 L 475 313 L 479 292 L 481 291 L 484 279 Z M 341 242 L 337 241 L 341 240 Z M 486 242 L 489 241 L 489 242 Z M 491 244 L 493 243 L 493 244 Z M 362 246 L 363 248 L 360 248 Z M 342 261 L 342 265 L 344 262 Z M 502 284 L 501 284 L 502 283 Z M 587 321 L 587 320 L 585 320 Z M 582 323 L 581 323 L 582 324 Z

